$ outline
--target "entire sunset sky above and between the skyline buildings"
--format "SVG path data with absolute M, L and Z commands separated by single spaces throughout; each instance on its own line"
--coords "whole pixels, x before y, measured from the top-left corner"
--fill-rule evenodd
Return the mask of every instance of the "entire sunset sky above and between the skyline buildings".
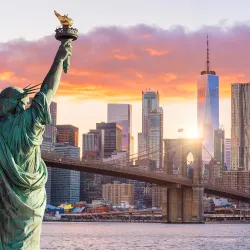
M 106 121 L 107 103 L 130 103 L 136 151 L 146 88 L 160 93 L 165 138 L 180 136 L 178 128 L 195 135 L 208 34 L 220 77 L 220 124 L 230 136 L 230 85 L 250 80 L 250 1 L 9 0 L 1 9 L 0 90 L 43 81 L 59 46 L 53 11 L 69 14 L 80 34 L 55 99 L 58 124 L 86 133 Z

